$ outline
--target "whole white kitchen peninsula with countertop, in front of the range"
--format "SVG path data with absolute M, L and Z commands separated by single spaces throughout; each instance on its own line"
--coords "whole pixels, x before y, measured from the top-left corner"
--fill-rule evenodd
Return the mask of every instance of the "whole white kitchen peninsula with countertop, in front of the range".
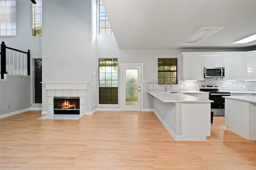
M 154 113 L 175 141 L 206 141 L 210 136 L 210 102 L 213 101 L 189 96 L 187 91 L 148 91 L 148 94 L 154 97 Z

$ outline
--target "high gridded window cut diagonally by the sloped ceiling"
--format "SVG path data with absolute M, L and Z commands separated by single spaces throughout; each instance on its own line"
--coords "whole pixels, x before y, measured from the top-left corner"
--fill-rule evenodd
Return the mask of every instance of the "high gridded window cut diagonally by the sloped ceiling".
M 99 35 L 114 35 L 101 0 L 99 0 Z

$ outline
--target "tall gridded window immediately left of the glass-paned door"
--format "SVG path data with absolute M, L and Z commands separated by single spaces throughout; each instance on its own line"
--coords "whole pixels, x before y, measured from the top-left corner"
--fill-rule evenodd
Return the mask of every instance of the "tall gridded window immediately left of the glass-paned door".
M 118 104 L 117 59 L 99 59 L 99 104 Z

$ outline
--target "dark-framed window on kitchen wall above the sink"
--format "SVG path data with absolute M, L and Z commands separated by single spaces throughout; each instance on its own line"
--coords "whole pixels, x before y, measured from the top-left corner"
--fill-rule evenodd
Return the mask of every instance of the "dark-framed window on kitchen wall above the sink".
M 158 84 L 177 84 L 177 59 L 158 59 Z

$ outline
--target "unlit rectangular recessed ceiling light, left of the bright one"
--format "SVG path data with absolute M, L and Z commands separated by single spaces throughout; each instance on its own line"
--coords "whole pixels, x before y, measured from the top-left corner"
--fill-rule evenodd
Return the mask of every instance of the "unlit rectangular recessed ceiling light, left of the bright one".
M 210 37 L 211 35 L 217 33 L 222 30 L 224 27 L 204 27 L 198 29 L 193 35 L 191 35 L 188 39 L 183 41 L 180 45 L 194 45 L 203 41 L 204 39 Z

